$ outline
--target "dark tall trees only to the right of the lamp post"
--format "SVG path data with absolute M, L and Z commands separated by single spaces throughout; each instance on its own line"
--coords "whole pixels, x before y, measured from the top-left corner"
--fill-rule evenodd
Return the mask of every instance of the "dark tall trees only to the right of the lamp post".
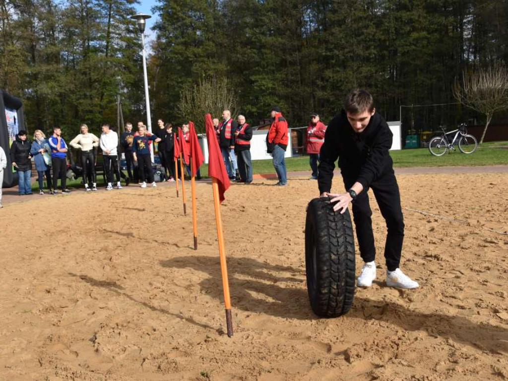
M 508 58 L 505 0 L 160 0 L 153 68 L 172 115 L 183 86 L 228 77 L 256 123 L 274 104 L 290 124 L 329 120 L 354 87 L 388 120 L 399 105 L 456 102 L 462 70 Z M 461 105 L 404 108 L 406 128 L 477 117 Z

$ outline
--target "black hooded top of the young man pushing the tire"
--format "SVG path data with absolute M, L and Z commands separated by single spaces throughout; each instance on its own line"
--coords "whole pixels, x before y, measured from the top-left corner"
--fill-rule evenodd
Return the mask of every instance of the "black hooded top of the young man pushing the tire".
M 366 189 L 386 173 L 393 173 L 393 161 L 389 154 L 393 134 L 387 122 L 377 112 L 370 118 L 367 128 L 354 132 L 345 111 L 332 119 L 321 147 L 319 176 L 320 193 L 330 192 L 335 161 L 347 183 L 358 181 Z

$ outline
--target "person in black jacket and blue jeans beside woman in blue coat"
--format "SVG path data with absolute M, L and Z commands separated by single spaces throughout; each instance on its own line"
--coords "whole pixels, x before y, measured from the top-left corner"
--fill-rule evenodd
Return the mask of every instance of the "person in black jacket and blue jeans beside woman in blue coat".
M 31 195 L 30 142 L 26 131 L 21 130 L 11 145 L 11 162 L 18 173 L 18 192 L 20 196 Z

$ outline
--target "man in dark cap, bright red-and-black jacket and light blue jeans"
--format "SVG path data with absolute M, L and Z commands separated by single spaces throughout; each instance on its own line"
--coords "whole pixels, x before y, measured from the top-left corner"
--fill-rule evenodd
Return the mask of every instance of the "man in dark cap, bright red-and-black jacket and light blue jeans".
M 271 116 L 273 122 L 266 138 L 267 151 L 272 154 L 273 167 L 279 179 L 276 185 L 288 185 L 284 160 L 285 150 L 288 148 L 289 141 L 288 122 L 284 119 L 280 108 L 277 106 L 272 107 Z

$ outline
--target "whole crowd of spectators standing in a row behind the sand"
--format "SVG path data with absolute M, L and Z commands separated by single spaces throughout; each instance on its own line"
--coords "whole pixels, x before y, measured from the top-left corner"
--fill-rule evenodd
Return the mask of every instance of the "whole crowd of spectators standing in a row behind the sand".
M 272 163 L 277 173 L 276 185 L 288 184 L 287 170 L 285 166 L 285 151 L 288 147 L 289 132 L 288 122 L 283 117 L 279 107 L 273 107 L 270 111 L 272 123 L 267 134 L 267 152 L 272 155 Z M 213 119 L 213 125 L 217 142 L 219 144 L 224 165 L 229 178 L 236 182 L 250 184 L 252 182 L 252 158 L 250 154 L 250 141 L 253 135 L 252 126 L 246 122 L 244 115 L 238 115 L 236 119 L 231 116 L 230 110 L 224 110 L 221 119 Z M 45 189 L 50 195 L 58 194 L 58 180 L 60 180 L 60 192 L 71 193 L 67 187 L 67 171 L 71 169 L 74 175 L 82 177 L 86 192 L 97 192 L 97 172 L 103 171 L 106 179 L 106 190 L 121 189 L 122 180 L 125 185 L 131 182 L 138 183 L 142 188 L 148 185 L 156 187 L 154 169 L 151 158 L 151 146 L 157 143 L 157 155 L 160 159 L 160 181 L 175 181 L 180 177 L 180 158 L 174 156 L 175 144 L 190 143 L 189 124 L 182 123 L 183 141 L 179 141 L 178 134 L 173 130 L 173 124 L 157 120 L 157 127 L 152 133 L 147 131 L 143 122 L 137 124 L 134 131 L 131 122 L 125 123 L 124 132 L 118 134 L 111 129 L 110 125 L 102 125 L 100 137 L 90 133 L 88 126 L 80 126 L 78 134 L 69 143 L 63 139 L 61 129 L 55 126 L 47 137 L 42 130 L 35 130 L 33 140 L 30 141 L 26 131 L 21 130 L 12 142 L 10 152 L 5 152 L 0 147 L 0 184 L 7 170 L 7 154 L 10 155 L 13 169 L 18 175 L 18 193 L 20 196 L 31 195 L 32 163 L 34 161 L 37 171 L 39 194 L 44 195 Z M 324 142 L 326 127 L 320 121 L 316 113 L 311 115 L 311 120 L 306 133 L 306 148 L 309 153 L 309 163 L 312 169 L 310 179 L 317 179 L 317 164 L 319 152 Z M 78 152 L 78 160 L 68 164 L 69 149 L 74 148 Z M 98 166 L 98 148 L 102 151 L 102 167 Z M 188 150 L 184 150 L 188 151 Z M 120 157 L 123 153 L 125 159 L 125 175 L 120 168 Z M 177 165 L 175 166 L 175 160 Z M 188 160 L 184 160 L 188 162 Z M 185 165 L 186 175 L 190 177 L 190 166 Z M 177 172 L 175 172 L 177 171 Z M 201 179 L 198 169 L 197 179 Z M 46 186 L 44 186 L 46 179 Z M 0 188 L 0 207 L 2 207 L 2 190 Z

